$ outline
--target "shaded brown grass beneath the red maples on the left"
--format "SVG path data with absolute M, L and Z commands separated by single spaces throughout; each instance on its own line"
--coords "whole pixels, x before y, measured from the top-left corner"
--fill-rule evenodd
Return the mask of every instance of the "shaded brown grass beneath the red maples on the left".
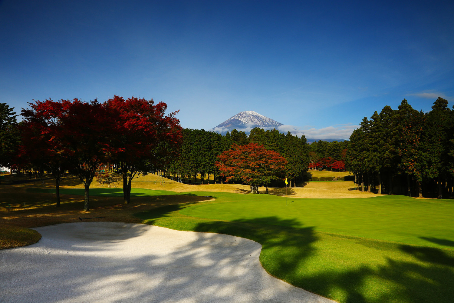
M 81 222 L 79 217 L 105 217 L 96 221 L 140 223 L 133 214 L 170 204 L 196 203 L 211 200 L 207 197 L 163 195 L 131 197 L 130 204 L 123 204 L 120 197 L 90 196 L 90 210 L 84 212 L 84 196 L 60 194 L 60 207 L 55 206 L 55 194 L 28 193 L 27 188 L 54 188 L 53 180 L 44 184 L 33 181 L 23 184 L 0 185 L 0 218 L 2 223 L 17 227 L 38 227 L 59 223 Z M 68 178 L 62 188 L 83 188 L 77 179 Z M 97 183 L 96 183 L 97 184 Z M 100 187 L 92 186 L 92 188 Z M 161 186 L 162 187 L 162 186 Z M 162 188 L 161 188 L 162 189 Z

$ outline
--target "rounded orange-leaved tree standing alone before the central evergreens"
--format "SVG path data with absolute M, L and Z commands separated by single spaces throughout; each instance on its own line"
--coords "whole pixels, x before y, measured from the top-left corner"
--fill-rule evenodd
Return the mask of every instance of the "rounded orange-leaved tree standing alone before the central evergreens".
M 216 165 L 221 176 L 227 177 L 227 181 L 242 179 L 243 183 L 250 184 L 252 194 L 258 194 L 259 185 L 265 185 L 268 193 L 268 184 L 283 177 L 287 164 L 281 154 L 256 143 L 233 144 L 218 159 Z

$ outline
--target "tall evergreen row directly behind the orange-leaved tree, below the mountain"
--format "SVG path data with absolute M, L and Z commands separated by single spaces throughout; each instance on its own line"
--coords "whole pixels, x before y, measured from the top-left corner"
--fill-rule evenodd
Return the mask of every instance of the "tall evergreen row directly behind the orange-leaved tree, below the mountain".
M 265 131 L 257 127 L 252 129 L 249 135 L 236 129 L 225 135 L 203 129 L 184 129 L 180 156 L 169 164 L 168 172 L 178 174 L 185 183 L 197 183 L 198 174 L 201 175 L 202 182 L 206 174 L 208 182 L 211 175 L 216 182 L 223 182 L 225 179 L 219 176 L 216 166 L 217 156 L 230 149 L 232 144 L 249 143 L 263 145 L 265 149 L 283 155 L 288 161 L 286 177 L 290 184 L 295 184 L 296 179 L 302 179 L 307 171 L 309 145 L 304 135 L 298 138 L 290 132 L 285 135 L 276 129 Z

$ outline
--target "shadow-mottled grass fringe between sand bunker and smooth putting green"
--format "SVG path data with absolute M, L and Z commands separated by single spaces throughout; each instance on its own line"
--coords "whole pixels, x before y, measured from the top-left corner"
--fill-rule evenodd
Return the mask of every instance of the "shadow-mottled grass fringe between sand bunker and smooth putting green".
M 268 273 L 324 297 L 342 303 L 452 302 L 454 254 L 449 250 L 329 233 L 320 238 L 321 233 L 312 227 L 276 216 L 236 221 L 187 216 L 183 220 L 170 218 L 172 212 L 178 212 L 182 207 L 171 205 L 156 209 L 154 219 L 148 214 L 149 223 L 252 239 L 262 244 L 260 261 Z M 168 221 L 161 219 L 167 217 Z M 337 242 L 331 241 L 330 237 L 336 238 Z M 320 251 L 319 241 L 325 241 L 328 248 Z M 358 262 L 355 264 L 349 256 L 337 253 L 336 243 L 355 247 L 351 253 L 358 256 Z M 367 249 L 363 251 L 361 247 Z M 367 263 L 367 260 L 380 259 L 384 261 Z M 337 267 L 328 265 L 330 262 Z M 342 266 L 344 262 L 351 265 Z

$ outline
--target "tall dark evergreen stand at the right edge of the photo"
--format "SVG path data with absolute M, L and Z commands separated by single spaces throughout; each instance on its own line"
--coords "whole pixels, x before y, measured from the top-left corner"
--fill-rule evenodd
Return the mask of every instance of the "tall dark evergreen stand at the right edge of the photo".
M 439 97 L 432 110 L 407 100 L 365 117 L 350 136 L 347 168 L 360 189 L 378 194 L 448 197 L 454 181 L 454 108 Z

